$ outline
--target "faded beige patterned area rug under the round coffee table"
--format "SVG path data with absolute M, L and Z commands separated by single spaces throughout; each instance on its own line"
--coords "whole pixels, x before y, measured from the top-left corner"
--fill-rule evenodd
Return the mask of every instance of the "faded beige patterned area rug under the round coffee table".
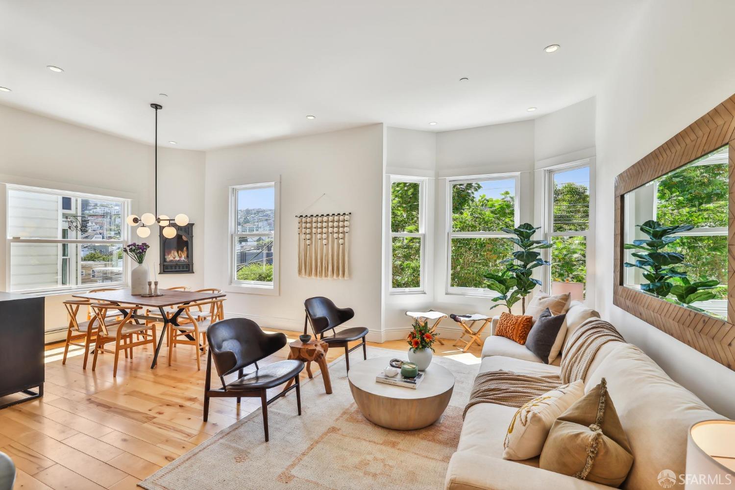
M 359 352 L 352 359 L 357 361 Z M 368 358 L 406 358 L 406 352 L 368 347 Z M 151 477 L 148 490 L 442 489 L 462 430 L 462 410 L 479 364 L 434 357 L 456 378 L 449 406 L 434 425 L 400 431 L 374 425 L 355 405 L 344 356 L 329 364 L 332 394 L 320 375 L 268 407 L 270 442 L 254 411 Z M 409 388 L 406 388 L 409 389 Z

